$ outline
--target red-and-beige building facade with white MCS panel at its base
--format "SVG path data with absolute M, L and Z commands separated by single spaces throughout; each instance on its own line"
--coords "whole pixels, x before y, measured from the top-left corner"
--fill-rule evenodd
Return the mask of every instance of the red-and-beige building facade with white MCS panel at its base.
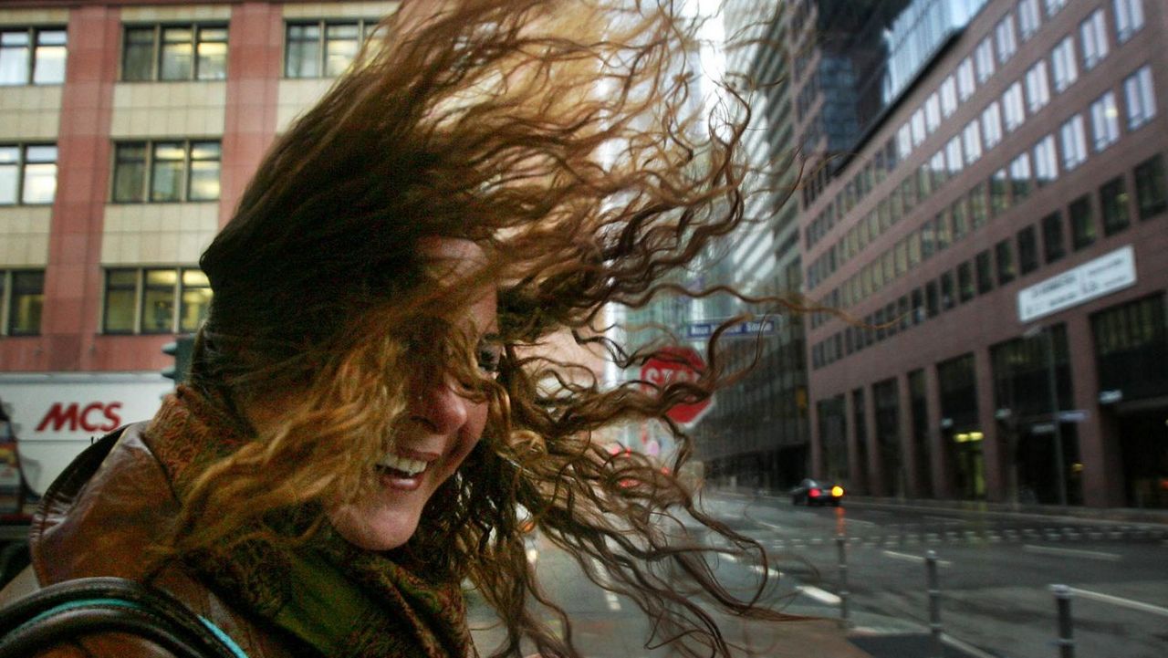
M 158 407 L 160 348 L 210 302 L 200 254 L 395 8 L 0 6 L 0 402 L 28 469 Z

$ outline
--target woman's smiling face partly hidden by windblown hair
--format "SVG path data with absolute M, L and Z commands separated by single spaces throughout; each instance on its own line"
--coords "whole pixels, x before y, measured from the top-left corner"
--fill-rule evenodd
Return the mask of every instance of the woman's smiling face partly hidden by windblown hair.
M 484 258 L 477 244 L 456 238 L 431 240 L 423 244 L 423 251 L 438 259 L 437 266 L 456 273 Z M 480 352 L 494 353 L 491 338 L 499 328 L 496 292 L 484 289 L 475 296 L 464 321 L 464 328 L 479 340 Z M 408 414 L 405 429 L 378 463 L 378 489 L 328 512 L 336 532 L 361 548 L 388 550 L 413 535 L 430 497 L 454 475 L 482 436 L 487 402 L 460 395 L 458 385 L 447 379 L 415 386 Z

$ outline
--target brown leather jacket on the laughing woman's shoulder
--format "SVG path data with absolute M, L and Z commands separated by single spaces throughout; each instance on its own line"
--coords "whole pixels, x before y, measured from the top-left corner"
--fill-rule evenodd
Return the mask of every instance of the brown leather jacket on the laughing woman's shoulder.
M 179 503 L 144 436 L 146 423 L 83 452 L 49 487 L 29 531 L 33 563 L 2 593 L 0 605 L 35 589 L 84 576 L 142 580 L 145 552 L 172 526 Z M 35 576 L 35 577 L 34 577 Z M 303 654 L 281 631 L 234 609 L 193 574 L 166 567 L 152 584 L 218 625 L 250 658 Z M 44 658 L 161 658 L 160 647 L 116 633 L 60 646 Z

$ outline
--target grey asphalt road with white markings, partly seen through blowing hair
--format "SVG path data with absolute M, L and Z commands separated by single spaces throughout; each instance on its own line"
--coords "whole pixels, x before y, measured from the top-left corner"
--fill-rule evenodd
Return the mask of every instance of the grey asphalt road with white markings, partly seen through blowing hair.
M 835 536 L 842 533 L 856 642 L 927 631 L 924 555 L 931 549 L 939 557 L 943 624 L 953 656 L 1058 656 L 1049 589 L 1055 583 L 1073 588 L 1077 658 L 1168 656 L 1168 526 L 860 504 L 797 508 L 785 499 L 730 494 L 708 494 L 705 508 L 763 543 L 772 575 L 781 574 L 769 600 L 798 614 L 839 616 Z M 533 540 L 529 557 L 548 593 L 564 604 L 588 656 L 670 654 L 644 649 L 649 629 L 633 603 L 586 582 L 549 542 Z M 725 559 L 715 569 L 734 588 L 758 577 L 756 565 Z M 766 647 L 759 656 L 807 656 L 784 645 L 792 633 L 781 624 L 719 618 L 731 639 Z M 472 597 L 484 650 L 499 638 L 498 629 L 482 630 L 489 619 Z

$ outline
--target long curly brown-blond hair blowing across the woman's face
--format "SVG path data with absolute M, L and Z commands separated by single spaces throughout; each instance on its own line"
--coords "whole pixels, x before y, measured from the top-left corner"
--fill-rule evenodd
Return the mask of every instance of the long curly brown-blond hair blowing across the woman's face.
M 286 413 L 199 478 L 175 550 L 371 491 L 422 370 L 463 382 L 489 420 L 405 548 L 468 579 L 498 611 L 507 636 L 495 656 L 519 654 L 524 639 L 578 656 L 570 631 L 527 604 L 570 629 L 526 559 L 526 524 L 633 600 L 652 640 L 681 654 L 731 652 L 696 593 L 742 616 L 790 618 L 759 603 L 765 575 L 746 597 L 718 582 L 717 552 L 765 567 L 765 550 L 704 514 L 676 475 L 690 446 L 666 411 L 735 376 L 717 335 L 696 381 L 661 385 L 605 386 L 541 349 L 566 333 L 618 367 L 644 363 L 662 345 L 606 338 L 605 306 L 686 293 L 670 277 L 744 221 L 750 111 L 730 85 L 717 103 L 700 92 L 686 63 L 698 23 L 666 1 L 578 0 L 408 2 L 380 23 L 279 137 L 202 257 L 215 295 L 193 385 L 236 409 L 278 399 Z M 436 272 L 418 249 L 433 236 L 475 241 L 484 264 L 457 280 Z M 457 330 L 482 285 L 499 290 L 498 379 Z M 672 469 L 604 449 L 606 428 L 645 420 L 675 434 Z M 683 518 L 718 545 L 687 539 L 672 522 Z

